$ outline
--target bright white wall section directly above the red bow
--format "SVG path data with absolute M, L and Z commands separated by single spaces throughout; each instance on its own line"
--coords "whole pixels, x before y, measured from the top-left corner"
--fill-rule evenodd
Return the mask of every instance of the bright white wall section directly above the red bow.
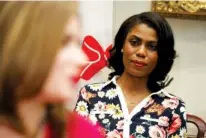
M 106 47 L 112 42 L 112 1 L 81 1 L 83 36 L 93 35 Z

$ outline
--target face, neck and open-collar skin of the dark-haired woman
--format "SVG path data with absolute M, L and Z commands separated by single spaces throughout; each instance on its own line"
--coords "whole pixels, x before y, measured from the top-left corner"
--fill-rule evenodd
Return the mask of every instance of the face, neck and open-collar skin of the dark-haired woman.
M 125 69 L 117 83 L 122 88 L 129 113 L 151 94 L 147 81 L 157 65 L 157 41 L 156 31 L 146 24 L 135 25 L 127 34 L 122 49 Z

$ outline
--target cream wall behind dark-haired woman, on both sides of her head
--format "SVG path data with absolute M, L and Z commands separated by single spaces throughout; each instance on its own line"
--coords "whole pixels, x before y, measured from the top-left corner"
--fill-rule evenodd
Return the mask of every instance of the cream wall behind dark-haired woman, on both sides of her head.
M 151 1 L 114 1 L 113 37 L 121 23 L 133 14 L 151 11 Z M 167 18 L 179 54 L 170 73 L 174 81 L 167 91 L 181 97 L 187 112 L 206 120 L 206 21 Z

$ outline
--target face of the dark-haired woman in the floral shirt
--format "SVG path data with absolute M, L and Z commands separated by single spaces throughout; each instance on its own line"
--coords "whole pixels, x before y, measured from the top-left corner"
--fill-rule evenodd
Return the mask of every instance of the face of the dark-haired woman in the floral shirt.
M 157 34 L 146 24 L 134 26 L 123 46 L 124 72 L 135 77 L 148 77 L 158 61 Z

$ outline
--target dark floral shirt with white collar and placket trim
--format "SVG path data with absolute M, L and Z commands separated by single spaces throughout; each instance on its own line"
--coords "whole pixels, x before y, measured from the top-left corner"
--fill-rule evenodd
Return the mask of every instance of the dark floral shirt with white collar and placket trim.
M 100 123 L 107 138 L 186 137 L 185 103 L 180 98 L 160 90 L 129 113 L 116 77 L 83 87 L 75 111 Z

